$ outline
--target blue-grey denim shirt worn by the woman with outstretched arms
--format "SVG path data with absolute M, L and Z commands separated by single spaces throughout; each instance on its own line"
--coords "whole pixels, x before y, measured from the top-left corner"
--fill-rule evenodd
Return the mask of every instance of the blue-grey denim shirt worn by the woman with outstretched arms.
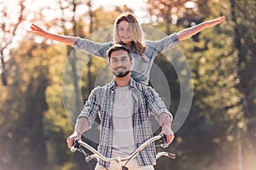
M 146 40 L 146 48 L 144 51 L 145 57 L 137 54 L 137 52 L 132 54 L 133 65 L 131 67 L 131 77 L 137 82 L 148 84 L 150 69 L 154 64 L 155 55 L 160 54 L 168 48 L 173 48 L 177 43 L 179 43 L 177 33 L 173 33 L 159 41 Z M 93 42 L 89 39 L 78 37 L 73 47 L 75 49 L 81 49 L 88 54 L 108 59 L 107 51 L 112 46 L 113 42 Z

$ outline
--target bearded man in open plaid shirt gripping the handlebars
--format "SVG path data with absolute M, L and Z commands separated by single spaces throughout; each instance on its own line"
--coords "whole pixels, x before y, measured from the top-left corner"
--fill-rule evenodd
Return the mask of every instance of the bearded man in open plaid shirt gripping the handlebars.
M 174 139 L 172 114 L 167 111 L 159 95 L 131 77 L 131 51 L 122 45 L 108 49 L 108 62 L 113 72 L 113 81 L 103 87 L 96 87 L 81 111 L 73 134 L 67 138 L 71 148 L 73 140 L 93 124 L 96 114 L 101 119 L 101 134 L 98 151 L 107 157 L 128 156 L 144 141 L 152 137 L 149 112 L 158 119 L 166 134 L 167 144 Z M 129 161 L 129 169 L 152 170 L 155 164 L 154 144 L 148 145 L 140 154 Z M 100 160 L 96 169 L 115 169 L 115 162 Z

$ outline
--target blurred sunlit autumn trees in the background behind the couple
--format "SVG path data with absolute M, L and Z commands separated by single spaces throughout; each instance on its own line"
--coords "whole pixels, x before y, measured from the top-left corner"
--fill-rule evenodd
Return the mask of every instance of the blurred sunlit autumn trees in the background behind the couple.
M 66 139 L 73 132 L 73 121 L 62 103 L 65 95 L 61 94 L 61 82 L 70 59 L 67 88 L 73 92 L 68 94 L 73 96 L 72 105 L 76 105 L 70 112 L 79 114 L 83 106 L 79 94 L 87 99 L 106 61 L 74 53 L 71 47 L 27 32 L 26 27 L 34 22 L 60 34 L 111 41 L 114 19 L 132 9 L 92 8 L 93 1 L 89 0 L 56 0 L 44 8 L 32 8 L 32 3 L 27 0 L 10 6 L 0 2 L 0 169 L 93 169 L 95 163 L 85 163 L 80 154 L 67 149 Z M 143 26 L 153 26 L 167 35 L 221 15 L 226 17 L 221 25 L 178 45 L 189 63 L 194 98 L 186 122 L 168 148 L 177 153 L 177 160 L 160 158 L 155 168 L 253 169 L 255 1 L 148 0 L 144 5 L 149 22 Z M 101 29 L 106 29 L 105 35 L 95 33 Z M 172 65 L 166 65 L 161 54 L 155 63 L 172 83 L 175 115 L 180 88 L 177 73 Z

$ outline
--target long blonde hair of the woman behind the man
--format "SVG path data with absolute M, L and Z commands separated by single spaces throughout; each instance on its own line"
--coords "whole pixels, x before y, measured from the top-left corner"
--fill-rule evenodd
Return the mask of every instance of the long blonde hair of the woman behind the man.
M 121 42 L 118 32 L 119 23 L 123 20 L 129 23 L 132 38 L 131 52 L 137 51 L 138 54 L 143 55 L 143 52 L 145 50 L 143 29 L 139 25 L 137 18 L 134 14 L 123 13 L 117 17 L 113 25 L 113 41 L 117 44 L 125 45 L 125 43 Z

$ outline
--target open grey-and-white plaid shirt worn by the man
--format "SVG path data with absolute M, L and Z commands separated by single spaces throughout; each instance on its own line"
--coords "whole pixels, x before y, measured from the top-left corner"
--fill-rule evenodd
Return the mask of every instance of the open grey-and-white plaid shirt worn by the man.
M 131 97 L 133 103 L 133 132 L 135 144 L 139 147 L 143 142 L 153 136 L 152 128 L 149 120 L 149 111 L 156 118 L 161 113 L 172 114 L 167 111 L 166 105 L 162 102 L 153 88 L 150 88 L 142 83 L 136 82 L 131 78 L 130 88 L 132 90 Z M 100 144 L 98 151 L 106 157 L 112 156 L 113 144 L 113 100 L 115 93 L 114 80 L 103 87 L 96 87 L 90 94 L 89 99 L 84 105 L 78 119 L 84 116 L 88 119 L 89 125 L 93 124 L 96 114 L 99 113 L 101 119 Z M 154 143 L 149 144 L 137 156 L 141 166 L 155 164 L 155 147 Z M 104 167 L 109 167 L 109 162 L 102 161 L 100 164 Z

